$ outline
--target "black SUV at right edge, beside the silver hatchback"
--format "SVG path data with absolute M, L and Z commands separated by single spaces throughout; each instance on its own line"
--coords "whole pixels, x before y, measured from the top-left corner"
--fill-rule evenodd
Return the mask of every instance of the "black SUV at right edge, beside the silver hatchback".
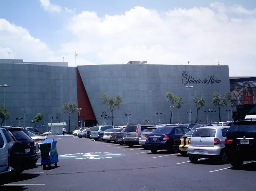
M 244 161 L 256 160 L 256 120 L 233 122 L 226 137 L 227 156 L 233 167 L 241 166 Z

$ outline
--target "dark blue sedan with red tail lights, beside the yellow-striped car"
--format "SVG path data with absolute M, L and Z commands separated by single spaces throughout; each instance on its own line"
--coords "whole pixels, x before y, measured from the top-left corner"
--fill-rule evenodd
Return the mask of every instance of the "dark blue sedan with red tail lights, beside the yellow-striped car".
M 173 150 L 174 138 L 182 137 L 190 131 L 187 127 L 159 127 L 146 137 L 145 146 L 151 152 L 157 152 L 160 149 Z

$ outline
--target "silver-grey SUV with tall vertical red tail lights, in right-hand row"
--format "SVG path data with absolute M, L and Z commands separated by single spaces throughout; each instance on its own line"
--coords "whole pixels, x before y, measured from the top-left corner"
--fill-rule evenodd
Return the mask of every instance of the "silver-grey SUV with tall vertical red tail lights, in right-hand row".
M 147 127 L 153 127 L 155 125 L 140 125 L 131 124 L 128 125 L 124 130 L 123 142 L 128 145 L 128 147 L 133 147 L 133 145 L 139 144 L 140 133 Z

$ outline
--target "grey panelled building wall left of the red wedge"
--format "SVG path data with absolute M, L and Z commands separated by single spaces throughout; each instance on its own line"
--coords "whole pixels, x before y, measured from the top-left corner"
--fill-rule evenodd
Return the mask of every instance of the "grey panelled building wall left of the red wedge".
M 0 63 L 0 84 L 7 84 L 5 88 L 5 104 L 11 113 L 6 125 L 18 126 L 19 120 L 24 118 L 21 109 L 27 109 L 25 113 L 26 127 L 33 127 L 30 120 L 36 113 L 43 113 L 44 119 L 38 124 L 42 132 L 41 124 L 47 123 L 52 117 L 58 117 L 56 122 L 68 124 L 68 114 L 61 113 L 60 107 L 64 102 L 74 102 L 77 105 L 77 76 L 76 67 L 43 66 L 34 64 L 3 64 Z M 4 103 L 4 90 L 0 88 L 0 103 Z M 54 119 L 52 120 L 54 122 Z M 4 123 L 3 123 L 4 124 Z M 24 120 L 20 120 L 24 126 Z M 70 127 L 78 127 L 77 112 L 71 114 Z M 68 127 L 68 126 L 67 126 Z M 51 130 L 49 127 L 48 130 Z

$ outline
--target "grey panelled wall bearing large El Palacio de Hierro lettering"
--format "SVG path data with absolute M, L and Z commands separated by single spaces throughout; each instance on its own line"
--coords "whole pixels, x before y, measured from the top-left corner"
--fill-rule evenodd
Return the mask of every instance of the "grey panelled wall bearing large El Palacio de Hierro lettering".
M 191 103 L 192 122 L 196 120 L 196 105 L 192 98 L 197 95 L 204 97 L 206 104 L 198 110 L 198 122 L 206 121 L 204 111 L 217 111 L 208 113 L 208 121 L 219 121 L 218 106 L 211 104 L 212 94 L 217 91 L 222 96 L 229 91 L 229 70 L 228 66 L 193 66 L 193 65 L 150 65 L 150 64 L 120 64 L 120 65 L 91 65 L 78 66 L 83 84 L 88 94 L 92 109 L 99 124 L 103 124 L 100 117 L 103 112 L 111 116 L 107 105 L 102 104 L 99 93 L 109 96 L 122 94 L 123 101 L 119 110 L 113 111 L 114 125 L 128 123 L 125 114 L 131 113 L 129 122 L 140 123 L 144 119 L 149 119 L 148 124 L 158 124 L 170 122 L 170 103 L 166 98 L 167 92 L 172 92 L 184 99 L 184 104 L 180 109 L 174 109 L 173 122 L 189 122 L 189 100 Z M 186 83 L 188 79 L 192 80 Z M 205 81 L 207 80 L 207 81 Z M 188 90 L 185 86 L 193 86 Z M 189 97 L 190 92 L 190 97 Z M 231 119 L 231 105 L 221 107 L 221 121 Z M 111 120 L 105 120 L 111 124 Z

